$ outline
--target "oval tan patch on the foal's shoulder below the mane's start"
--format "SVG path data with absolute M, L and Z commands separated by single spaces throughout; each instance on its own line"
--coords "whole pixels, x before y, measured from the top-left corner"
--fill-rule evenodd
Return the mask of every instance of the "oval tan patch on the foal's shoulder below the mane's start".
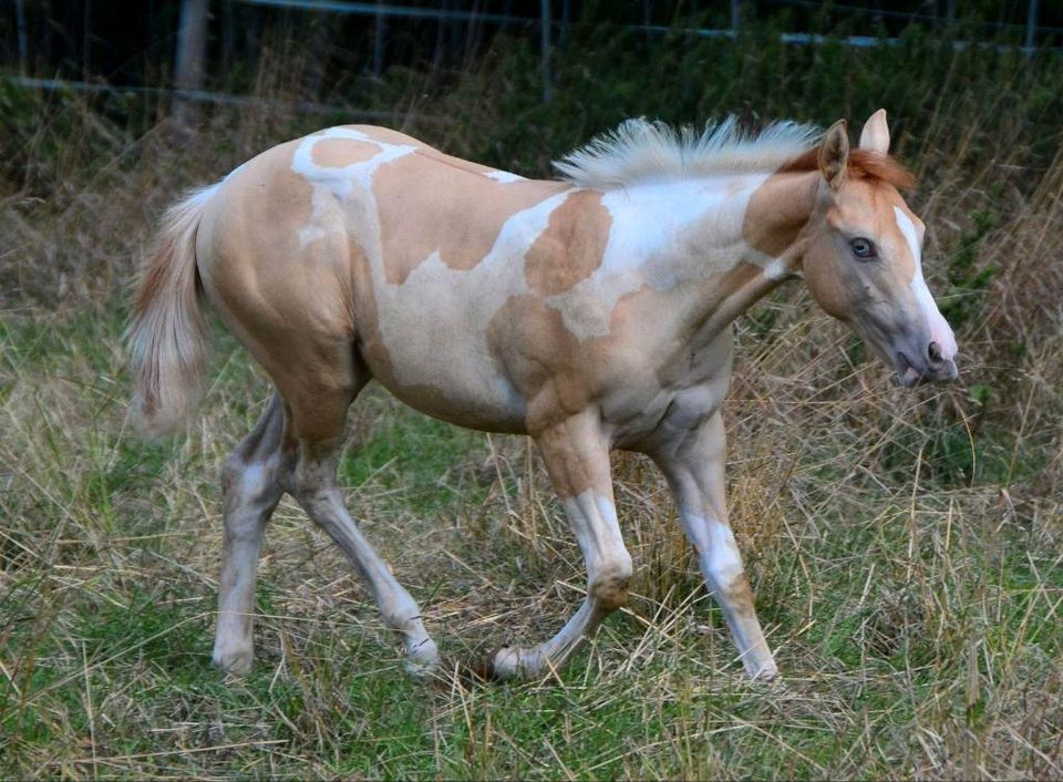
M 612 217 L 592 191 L 574 193 L 550 214 L 525 256 L 528 287 L 543 296 L 571 288 L 601 266 Z

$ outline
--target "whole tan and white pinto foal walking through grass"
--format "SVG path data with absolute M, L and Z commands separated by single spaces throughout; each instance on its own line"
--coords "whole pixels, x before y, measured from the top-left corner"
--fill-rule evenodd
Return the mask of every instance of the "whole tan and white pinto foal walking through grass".
M 844 120 L 753 134 L 733 117 L 703 133 L 628 120 L 555 166 L 559 178 L 528 179 L 396 131 L 338 126 L 168 212 L 128 329 L 135 414 L 156 435 L 190 414 L 206 305 L 274 385 L 221 467 L 223 670 L 251 667 L 257 560 L 286 492 L 353 564 L 407 668 L 437 670 L 421 609 L 337 485 L 348 408 L 375 379 L 443 421 L 532 436 L 579 543 L 580 607 L 549 640 L 497 650 L 495 677 L 560 669 L 625 605 L 633 565 L 616 449 L 663 473 L 745 672 L 777 673 L 727 521 L 721 408 L 734 320 L 803 278 L 901 384 L 957 377 L 886 113 L 853 148 Z

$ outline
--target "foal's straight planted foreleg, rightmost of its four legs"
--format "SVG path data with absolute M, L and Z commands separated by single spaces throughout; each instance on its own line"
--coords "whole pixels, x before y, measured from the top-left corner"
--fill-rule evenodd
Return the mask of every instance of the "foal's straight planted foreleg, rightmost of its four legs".
M 778 669 L 756 618 L 750 580 L 727 522 L 726 436 L 720 413 L 653 459 L 668 479 L 683 529 L 698 551 L 701 572 L 723 610 L 742 665 L 752 677 L 775 676 Z

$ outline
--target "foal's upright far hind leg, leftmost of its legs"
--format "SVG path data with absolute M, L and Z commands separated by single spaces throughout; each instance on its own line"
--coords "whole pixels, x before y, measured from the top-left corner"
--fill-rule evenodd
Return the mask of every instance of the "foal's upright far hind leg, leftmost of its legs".
M 285 473 L 290 470 L 281 449 L 283 428 L 285 409 L 275 392 L 255 429 L 221 467 L 225 532 L 214 662 L 233 673 L 247 673 L 251 667 L 258 554 L 266 524 L 285 492 Z

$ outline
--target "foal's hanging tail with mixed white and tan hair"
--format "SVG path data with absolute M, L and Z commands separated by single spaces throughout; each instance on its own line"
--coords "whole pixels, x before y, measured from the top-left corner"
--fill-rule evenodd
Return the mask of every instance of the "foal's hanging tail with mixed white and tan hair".
M 215 186 L 171 207 L 158 249 L 141 277 L 126 333 L 133 354 L 133 411 L 151 434 L 171 434 L 203 384 L 205 333 L 196 275 L 196 233 Z

